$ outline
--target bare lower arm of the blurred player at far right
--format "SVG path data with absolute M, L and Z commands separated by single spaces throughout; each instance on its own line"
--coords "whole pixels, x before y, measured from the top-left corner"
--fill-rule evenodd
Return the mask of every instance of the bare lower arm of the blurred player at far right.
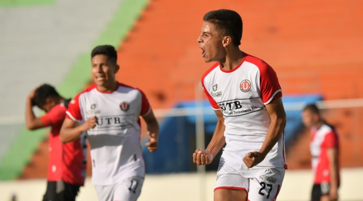
M 331 200 L 338 198 L 338 148 L 332 147 L 327 149 L 329 168 L 330 168 L 330 190 L 329 196 Z

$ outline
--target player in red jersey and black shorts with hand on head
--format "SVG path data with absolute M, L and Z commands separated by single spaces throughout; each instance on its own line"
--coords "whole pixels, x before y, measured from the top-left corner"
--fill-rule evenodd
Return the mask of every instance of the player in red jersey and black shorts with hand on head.
M 59 140 L 70 99 L 59 95 L 53 86 L 43 84 L 30 92 L 26 101 L 25 120 L 29 130 L 51 127 L 49 134 L 48 183 L 43 201 L 75 200 L 86 174 L 87 144 L 85 138 L 63 145 Z M 33 106 L 44 110 L 36 118 Z

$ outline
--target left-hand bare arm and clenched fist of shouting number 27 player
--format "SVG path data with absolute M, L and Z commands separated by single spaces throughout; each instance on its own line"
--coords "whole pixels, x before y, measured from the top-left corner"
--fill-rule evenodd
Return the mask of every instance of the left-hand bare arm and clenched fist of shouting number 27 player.
M 214 111 L 217 115 L 217 125 L 214 130 L 213 137 L 207 147 L 206 150 L 197 149 L 195 153 L 193 153 L 193 162 L 198 165 L 208 165 L 212 162 L 214 157 L 218 154 L 218 152 L 225 145 L 225 137 L 224 137 L 224 117 L 223 114 L 219 110 Z

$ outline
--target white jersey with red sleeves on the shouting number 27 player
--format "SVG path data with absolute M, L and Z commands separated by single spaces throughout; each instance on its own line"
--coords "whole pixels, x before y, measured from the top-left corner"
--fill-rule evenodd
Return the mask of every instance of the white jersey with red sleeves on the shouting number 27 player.
M 226 147 L 221 161 L 239 163 L 259 151 L 271 118 L 265 105 L 282 96 L 275 71 L 263 60 L 246 53 L 232 70 L 215 63 L 202 77 L 204 92 L 214 110 L 224 116 Z M 258 166 L 285 167 L 284 136 Z

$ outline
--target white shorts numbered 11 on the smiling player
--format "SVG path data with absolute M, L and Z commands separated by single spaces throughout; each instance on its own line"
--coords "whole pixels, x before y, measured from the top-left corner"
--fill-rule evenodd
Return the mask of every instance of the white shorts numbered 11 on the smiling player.
M 113 185 L 95 185 L 99 201 L 136 201 L 144 183 L 142 177 L 132 177 Z

